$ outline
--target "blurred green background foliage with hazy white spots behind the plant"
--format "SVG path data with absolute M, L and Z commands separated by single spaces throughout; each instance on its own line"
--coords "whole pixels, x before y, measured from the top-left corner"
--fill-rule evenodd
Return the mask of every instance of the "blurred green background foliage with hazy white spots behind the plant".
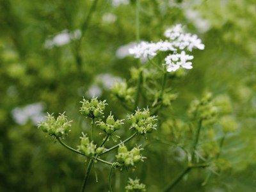
M 115 115 L 127 114 L 109 86 L 129 78 L 136 66 L 127 54 L 136 41 L 136 2 L 99 0 L 84 25 L 93 3 L 0 1 L 0 191 L 79 191 L 84 159 L 37 129 L 47 111 L 66 111 L 73 120 L 67 143 L 74 147 L 81 131 L 88 131 L 79 114 L 83 96 L 98 95 Z M 256 191 L 255 1 L 141 0 L 141 40 L 159 40 L 177 23 L 198 34 L 205 50 L 193 51 L 193 70 L 172 84 L 179 92 L 172 113 L 182 116 L 191 100 L 209 90 L 228 95 L 239 129 L 223 148 L 232 168 L 205 186 L 206 174 L 195 171 L 173 191 Z M 134 175 L 148 191 L 160 191 L 182 170 L 179 156 L 173 147 L 154 144 L 135 172 L 115 173 L 113 190 L 124 191 L 128 175 Z M 99 182 L 92 172 L 88 191 L 108 191 L 109 167 L 95 170 Z

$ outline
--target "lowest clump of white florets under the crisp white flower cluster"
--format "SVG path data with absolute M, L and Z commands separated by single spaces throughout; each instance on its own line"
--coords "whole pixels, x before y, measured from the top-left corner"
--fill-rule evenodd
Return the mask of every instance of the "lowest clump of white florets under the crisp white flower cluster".
M 168 55 L 164 61 L 165 65 L 167 65 L 167 71 L 172 72 L 178 70 L 180 67 L 191 69 L 192 63 L 188 60 L 193 60 L 193 56 L 186 54 L 185 51 L 180 52 L 180 54 L 170 54 Z

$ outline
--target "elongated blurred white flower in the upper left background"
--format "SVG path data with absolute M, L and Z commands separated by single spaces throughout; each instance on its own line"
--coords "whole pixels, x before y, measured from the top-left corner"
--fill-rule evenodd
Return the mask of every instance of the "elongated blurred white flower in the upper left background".
M 65 29 L 64 31 L 61 31 L 61 33 L 59 33 L 58 35 L 45 40 L 44 47 L 45 49 L 51 49 L 54 46 L 61 47 L 63 45 L 69 44 L 71 40 L 81 38 L 81 35 L 82 33 L 79 29 L 73 32 L 68 32 L 68 30 Z

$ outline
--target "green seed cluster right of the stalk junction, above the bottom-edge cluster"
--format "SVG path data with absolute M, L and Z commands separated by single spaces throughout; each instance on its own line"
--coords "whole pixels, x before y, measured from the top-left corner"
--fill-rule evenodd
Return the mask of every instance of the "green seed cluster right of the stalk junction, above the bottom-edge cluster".
M 134 166 L 135 163 L 138 163 L 139 161 L 143 161 L 143 159 L 145 159 L 145 157 L 142 157 L 140 154 L 141 150 L 143 150 L 143 148 L 134 147 L 132 148 L 132 150 L 129 151 L 124 144 L 119 145 L 118 154 L 116 155 L 116 161 L 122 166 Z

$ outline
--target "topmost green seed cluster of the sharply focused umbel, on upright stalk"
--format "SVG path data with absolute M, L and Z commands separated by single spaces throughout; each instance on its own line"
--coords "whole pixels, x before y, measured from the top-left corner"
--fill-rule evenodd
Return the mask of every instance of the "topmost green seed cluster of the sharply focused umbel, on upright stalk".
M 91 101 L 83 99 L 81 101 L 82 106 L 80 112 L 82 115 L 89 116 L 91 118 L 99 118 L 104 115 L 103 111 L 105 109 L 106 100 L 99 101 L 97 97 L 93 97 Z

